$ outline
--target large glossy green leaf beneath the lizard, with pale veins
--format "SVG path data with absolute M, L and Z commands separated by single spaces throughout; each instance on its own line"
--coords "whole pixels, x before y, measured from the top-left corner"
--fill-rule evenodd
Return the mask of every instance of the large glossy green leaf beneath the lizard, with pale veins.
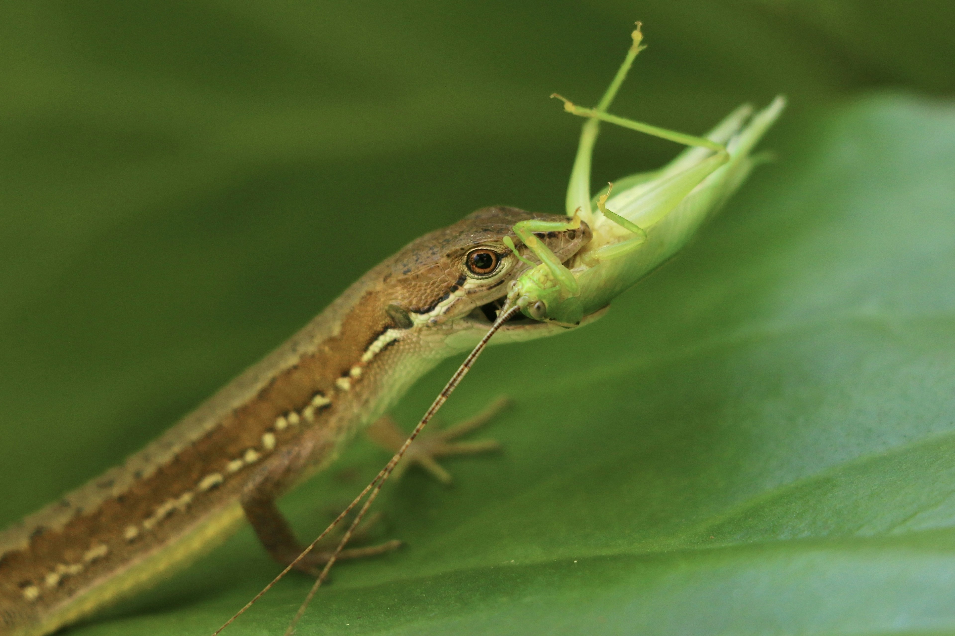
M 805 133 L 607 318 L 482 359 L 449 410 L 508 387 L 506 452 L 392 486 L 409 547 L 342 566 L 302 633 L 955 630 L 955 111 L 874 98 Z M 314 531 L 356 489 L 287 507 Z M 166 604 L 212 627 L 265 582 L 261 558 L 239 574 L 255 550 L 245 532 L 190 592 L 84 633 L 162 633 Z M 279 631 L 308 583 L 234 633 Z

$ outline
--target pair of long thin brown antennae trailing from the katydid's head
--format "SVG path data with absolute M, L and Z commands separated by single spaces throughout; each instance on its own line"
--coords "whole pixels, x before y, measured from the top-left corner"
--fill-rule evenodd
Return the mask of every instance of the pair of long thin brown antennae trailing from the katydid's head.
M 336 547 L 335 551 L 332 553 L 331 558 L 329 559 L 329 563 L 327 563 L 325 567 L 322 569 L 322 572 L 321 574 L 319 574 L 318 579 L 315 580 L 315 585 L 312 585 L 311 589 L 308 591 L 308 596 L 306 597 L 305 601 L 302 603 L 298 611 L 295 613 L 295 618 L 292 619 L 291 624 L 289 624 L 288 628 L 286 629 L 286 636 L 289 636 L 290 634 L 294 632 L 295 626 L 298 624 L 299 619 L 301 619 L 302 615 L 305 613 L 306 607 L 308 607 L 308 603 L 311 601 L 311 598 L 315 595 L 315 592 L 318 591 L 318 588 L 322 585 L 322 583 L 325 582 L 326 578 L 329 575 L 329 570 L 331 569 L 331 566 L 335 564 L 335 561 L 338 559 L 338 555 L 341 553 L 342 549 L 345 547 L 345 544 L 348 543 L 349 539 L 351 538 L 351 534 L 354 532 L 354 529 L 358 526 L 358 523 L 361 522 L 362 517 L 365 516 L 365 513 L 368 511 L 369 506 L 371 506 L 371 502 L 373 502 L 375 497 L 378 496 L 378 493 L 381 491 L 381 486 L 384 484 L 386 480 L 388 480 L 389 476 L 391 476 L 392 471 L 394 470 L 394 466 L 401 461 L 401 458 L 404 456 L 405 452 L 408 450 L 408 447 L 412 445 L 412 441 L 414 441 L 414 438 L 416 438 L 418 436 L 418 433 L 420 433 L 421 430 L 428 424 L 428 421 L 431 421 L 431 419 L 435 416 L 435 413 L 437 412 L 437 410 L 441 408 L 441 405 L 444 404 L 445 401 L 448 400 L 448 397 L 451 396 L 452 392 L 454 392 L 454 390 L 456 389 L 460 381 L 464 378 L 464 376 L 467 375 L 468 371 L 471 370 L 471 365 L 474 364 L 474 361 L 475 359 L 477 359 L 477 356 L 479 356 L 481 351 L 484 350 L 484 347 L 487 346 L 488 340 L 490 340 L 491 337 L 498 332 L 500 327 L 505 322 L 507 322 L 510 318 L 513 318 L 519 311 L 520 311 L 519 307 L 508 307 L 505 304 L 505 306 L 501 309 L 498 319 L 494 321 L 494 324 L 491 325 L 491 328 L 488 330 L 488 332 L 484 335 L 483 338 L 480 339 L 480 341 L 477 343 L 477 346 L 475 346 L 474 350 L 470 354 L 468 354 L 468 357 L 465 358 L 463 362 L 461 362 L 461 365 L 459 367 L 457 367 L 457 371 L 455 372 L 455 375 L 453 375 L 451 377 L 451 380 L 448 380 L 448 383 L 445 384 L 444 388 L 441 390 L 441 393 L 439 393 L 437 398 L 435 398 L 435 401 L 432 403 L 431 407 L 424 414 L 424 417 L 421 418 L 421 421 L 418 422 L 417 426 L 414 427 L 414 431 L 412 431 L 412 434 L 408 436 L 408 439 L 405 440 L 405 442 L 401 445 L 401 448 L 398 449 L 398 452 L 394 454 L 393 458 L 387 464 L 385 464 L 385 467 L 381 469 L 381 471 L 375 476 L 373 480 L 371 480 L 371 482 L 367 486 L 365 486 L 365 489 L 362 490 L 357 497 L 355 497 L 354 501 L 349 503 L 348 507 L 346 507 L 341 512 L 341 514 L 339 514 L 335 518 L 333 522 L 329 523 L 329 527 L 325 528 L 325 530 L 322 531 L 322 534 L 318 535 L 315 541 L 308 544 L 308 546 L 304 550 L 302 550 L 302 554 L 298 555 L 294 561 L 286 565 L 286 568 L 282 570 L 281 572 L 279 572 L 278 576 L 272 579 L 272 581 L 268 585 L 265 585 L 265 587 L 262 588 L 262 591 L 256 594 L 251 601 L 249 601 L 243 606 L 242 609 L 240 609 L 235 614 L 233 614 L 228 621 L 223 623 L 223 626 L 219 627 L 219 629 L 216 629 L 216 631 L 212 633 L 212 636 L 218 636 L 223 631 L 223 629 L 225 629 L 225 627 L 232 625 L 232 623 L 237 618 L 239 618 L 245 613 L 245 610 L 247 610 L 249 607 L 254 605 L 256 601 L 258 601 L 265 595 L 265 592 L 270 590 L 275 584 L 277 584 L 280 580 L 282 580 L 282 578 L 285 577 L 285 575 L 289 571 L 291 571 L 291 569 L 295 567 L 296 564 L 302 561 L 306 557 L 306 555 L 308 555 L 308 553 L 311 552 L 312 548 L 314 548 L 315 545 L 318 544 L 318 542 L 320 542 L 329 534 L 332 528 L 338 525 L 338 523 L 341 523 L 342 520 L 345 519 L 345 517 L 351 512 L 352 508 L 358 505 L 358 503 L 361 502 L 362 499 L 364 499 L 365 495 L 367 495 L 371 491 L 371 496 L 369 497 L 368 502 L 366 502 L 365 505 L 363 505 L 361 510 L 358 512 L 358 515 L 355 517 L 355 520 L 349 526 L 349 529 L 345 533 L 345 536 L 342 537 L 342 541 L 338 544 L 338 547 Z

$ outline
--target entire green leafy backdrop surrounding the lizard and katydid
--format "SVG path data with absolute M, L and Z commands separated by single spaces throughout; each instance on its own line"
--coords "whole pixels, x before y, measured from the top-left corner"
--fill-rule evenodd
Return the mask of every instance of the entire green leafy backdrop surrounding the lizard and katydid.
M 414 237 L 562 212 L 581 122 L 547 95 L 595 101 L 640 19 L 614 111 L 698 133 L 784 92 L 778 160 L 599 323 L 481 359 L 445 420 L 509 392 L 505 451 L 390 485 L 408 547 L 336 569 L 299 633 L 955 633 L 950 0 L 0 11 L 0 524 Z M 595 182 L 677 151 L 605 127 Z M 288 497 L 302 536 L 386 457 Z M 206 634 L 275 572 L 245 529 L 71 633 Z

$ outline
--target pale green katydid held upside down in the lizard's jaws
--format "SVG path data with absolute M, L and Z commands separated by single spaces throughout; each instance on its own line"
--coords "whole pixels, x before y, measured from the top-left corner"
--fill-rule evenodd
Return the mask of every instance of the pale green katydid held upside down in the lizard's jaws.
M 744 123 L 752 111 L 741 107 L 705 137 L 607 113 L 643 48 L 639 23 L 632 37 L 633 45 L 624 63 L 596 108 L 581 108 L 554 95 L 563 100 L 568 113 L 588 120 L 567 187 L 566 213 L 571 220 L 564 224 L 526 220 L 514 226 L 515 233 L 541 260 L 511 283 L 507 297 L 507 304 L 520 307 L 528 318 L 577 325 L 581 318 L 604 307 L 682 248 L 706 216 L 732 194 L 760 160 L 749 152 L 785 105 L 784 99 L 777 97 L 767 109 L 756 113 L 747 126 Z M 626 210 L 623 214 L 607 207 L 613 184 L 593 199 L 589 193 L 591 155 L 601 121 L 690 146 L 664 169 L 634 174 L 618 183 L 619 194 L 613 200 L 620 203 L 622 212 Z M 600 215 L 593 212 L 593 207 Z M 593 238 L 566 265 L 533 234 L 577 227 L 582 217 L 593 231 Z M 509 247 L 516 250 L 513 243 Z

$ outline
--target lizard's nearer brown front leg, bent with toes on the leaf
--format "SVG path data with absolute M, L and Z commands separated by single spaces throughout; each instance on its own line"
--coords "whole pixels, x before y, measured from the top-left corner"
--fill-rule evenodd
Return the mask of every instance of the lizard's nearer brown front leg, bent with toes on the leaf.
M 296 481 L 308 464 L 310 444 L 289 448 L 284 453 L 270 458 L 259 468 L 242 495 L 242 507 L 245 517 L 252 524 L 256 536 L 262 542 L 269 556 L 280 564 L 292 563 L 305 549 L 298 542 L 285 515 L 275 505 L 275 500 Z M 373 523 L 370 521 L 365 525 Z M 295 565 L 296 569 L 317 576 L 321 566 L 329 562 L 337 537 L 328 537 L 328 545 L 318 544 L 304 559 Z M 380 545 L 354 547 L 343 550 L 338 559 L 358 559 L 385 552 L 401 546 L 400 541 L 389 541 Z

